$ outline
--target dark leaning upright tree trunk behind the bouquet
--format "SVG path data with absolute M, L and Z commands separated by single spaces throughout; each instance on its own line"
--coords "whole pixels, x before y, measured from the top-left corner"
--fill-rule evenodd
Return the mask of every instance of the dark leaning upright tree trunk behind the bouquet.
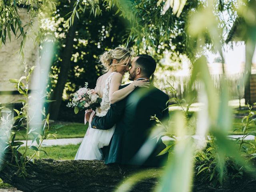
M 76 2 L 76 0 L 72 0 L 70 2 L 70 11 L 73 10 L 73 4 Z M 57 120 L 58 114 L 60 111 L 60 104 L 62 102 L 62 94 L 65 87 L 65 84 L 68 79 L 68 72 L 71 67 L 71 56 L 72 56 L 72 50 L 73 50 L 73 42 L 74 42 L 74 36 L 76 32 L 76 26 L 78 24 L 78 18 L 74 17 L 74 23 L 69 28 L 67 36 L 66 36 L 66 46 L 64 48 L 64 51 L 62 53 L 62 62 L 60 66 L 60 73 L 58 74 L 58 82 L 56 84 L 56 87 L 54 88 L 52 98 L 51 100 L 55 100 L 55 102 L 50 103 L 50 119 Z

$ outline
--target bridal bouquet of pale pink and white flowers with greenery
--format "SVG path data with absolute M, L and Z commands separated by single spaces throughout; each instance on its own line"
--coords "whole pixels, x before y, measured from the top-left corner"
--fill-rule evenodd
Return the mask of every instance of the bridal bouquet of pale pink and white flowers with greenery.
M 72 94 L 72 102 L 67 104 L 67 107 L 74 107 L 75 114 L 83 109 L 95 110 L 96 107 L 100 106 L 100 102 L 102 101 L 94 89 L 88 89 L 87 82 L 84 86 L 85 87 L 79 87 L 79 90 Z

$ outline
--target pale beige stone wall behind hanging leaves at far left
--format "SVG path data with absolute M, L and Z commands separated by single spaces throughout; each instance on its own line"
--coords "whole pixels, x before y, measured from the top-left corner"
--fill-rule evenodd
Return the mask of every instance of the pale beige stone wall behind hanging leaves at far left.
M 29 15 L 27 14 L 26 8 L 20 9 L 20 18 L 22 20 L 22 25 L 28 23 Z M 33 30 L 37 32 L 38 28 L 38 20 L 34 18 L 33 22 Z M 21 99 L 22 97 L 13 94 L 12 91 L 15 91 L 16 88 L 14 84 L 9 82 L 9 79 L 16 78 L 19 79 L 21 76 L 24 76 L 24 62 L 28 64 L 28 67 L 38 66 L 39 62 L 39 48 L 38 44 L 34 44 L 35 36 L 32 29 L 28 31 L 28 36 L 26 38 L 26 44 L 23 48 L 24 50 L 24 61 L 22 61 L 21 56 L 19 56 L 20 51 L 20 43 L 22 41 L 22 37 L 18 39 L 15 38 L 15 35 L 11 32 L 12 38 L 11 42 L 9 38 L 6 39 L 6 45 L 2 45 L 0 48 L 0 102 L 8 103 L 12 102 L 16 99 Z M 19 35 L 19 32 L 17 36 Z M 29 37 L 30 36 L 30 37 Z M 33 89 L 33 87 L 29 87 L 29 89 Z M 11 92 L 8 92 L 11 91 Z

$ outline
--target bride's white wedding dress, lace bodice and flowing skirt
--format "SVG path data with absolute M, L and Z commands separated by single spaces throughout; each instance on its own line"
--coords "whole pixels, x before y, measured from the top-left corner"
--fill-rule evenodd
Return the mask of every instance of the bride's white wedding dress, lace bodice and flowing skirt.
M 110 109 L 109 88 L 113 74 L 106 79 L 105 88 L 103 89 L 102 102 L 100 103 L 101 112 L 96 109 L 96 116 L 105 116 Z M 89 124 L 84 139 L 76 153 L 75 160 L 102 160 L 103 155 L 100 148 L 108 146 L 114 134 L 115 126 L 108 130 L 99 130 L 91 128 Z

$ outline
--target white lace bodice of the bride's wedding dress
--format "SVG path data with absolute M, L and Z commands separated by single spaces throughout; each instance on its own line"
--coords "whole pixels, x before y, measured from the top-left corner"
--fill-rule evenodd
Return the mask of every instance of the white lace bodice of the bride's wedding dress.
M 110 109 L 110 101 L 109 101 L 109 89 L 110 89 L 110 82 L 111 82 L 111 78 L 112 76 L 115 74 L 116 72 L 112 72 L 108 78 L 106 79 L 105 82 L 105 87 L 103 88 L 102 92 L 102 102 L 100 103 L 100 110 L 101 112 L 98 111 L 98 108 L 96 109 L 96 115 L 97 116 L 105 116 L 108 112 L 108 110 Z

